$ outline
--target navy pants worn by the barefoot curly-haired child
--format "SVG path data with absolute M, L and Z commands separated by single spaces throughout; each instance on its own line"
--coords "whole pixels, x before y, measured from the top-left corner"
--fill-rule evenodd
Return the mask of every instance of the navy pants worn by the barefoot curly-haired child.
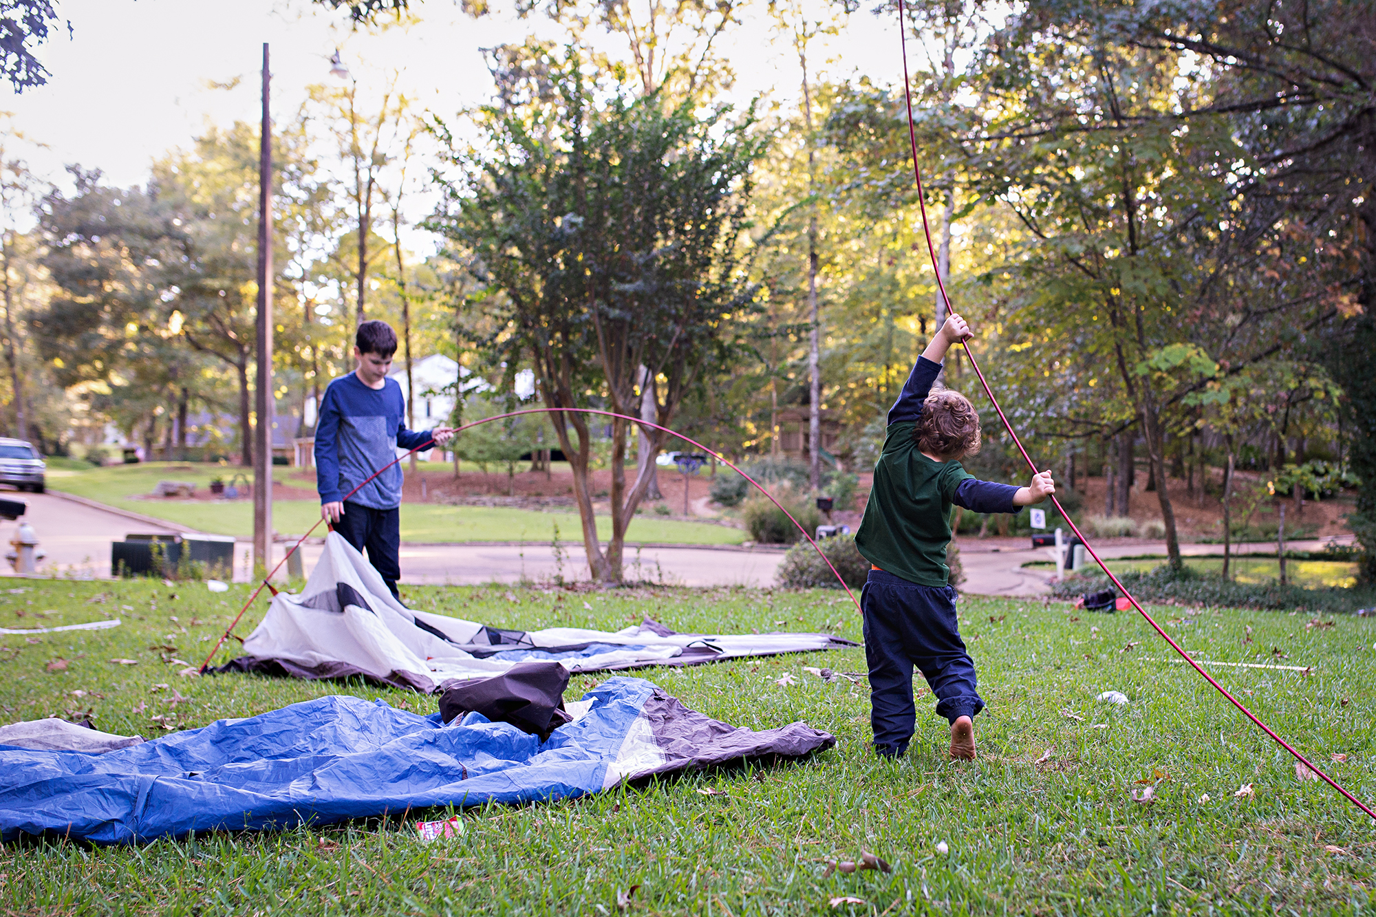
M 860 607 L 875 750 L 903 755 L 908 749 L 916 720 L 912 666 L 937 695 L 938 716 L 955 723 L 984 709 L 974 690 L 974 662 L 956 629 L 955 589 L 871 570 Z

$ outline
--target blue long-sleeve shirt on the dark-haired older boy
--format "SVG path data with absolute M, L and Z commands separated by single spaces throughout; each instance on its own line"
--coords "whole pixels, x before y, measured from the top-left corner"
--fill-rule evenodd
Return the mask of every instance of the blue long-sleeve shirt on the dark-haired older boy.
M 337 503 L 361 482 L 394 463 L 396 447 L 414 449 L 431 439 L 428 432 L 406 428 L 406 399 L 395 379 L 369 388 L 358 376 L 340 376 L 325 390 L 315 424 L 315 486 L 321 503 Z M 350 503 L 373 509 L 394 509 L 402 503 L 402 465 L 369 481 Z

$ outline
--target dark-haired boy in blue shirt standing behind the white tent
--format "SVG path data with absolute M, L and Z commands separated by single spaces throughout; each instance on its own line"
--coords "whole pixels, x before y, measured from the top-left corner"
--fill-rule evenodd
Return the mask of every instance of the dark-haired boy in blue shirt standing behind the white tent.
M 406 428 L 402 387 L 387 377 L 396 352 L 396 332 L 391 325 L 363 322 L 354 340 L 358 366 L 325 390 L 315 424 L 321 516 L 351 545 L 367 549 L 369 562 L 396 596 L 396 580 L 402 576 L 396 556 L 402 541 L 402 465 L 395 461 L 396 447 L 414 449 L 431 439 L 443 446 L 454 431 Z M 344 500 L 344 494 L 384 467 L 387 471 Z

